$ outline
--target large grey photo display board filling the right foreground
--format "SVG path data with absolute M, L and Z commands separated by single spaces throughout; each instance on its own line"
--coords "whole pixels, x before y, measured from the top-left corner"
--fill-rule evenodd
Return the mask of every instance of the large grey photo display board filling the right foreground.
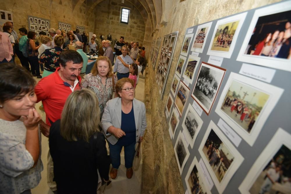
M 165 107 L 185 193 L 291 193 L 290 22 L 289 0 L 186 30 Z

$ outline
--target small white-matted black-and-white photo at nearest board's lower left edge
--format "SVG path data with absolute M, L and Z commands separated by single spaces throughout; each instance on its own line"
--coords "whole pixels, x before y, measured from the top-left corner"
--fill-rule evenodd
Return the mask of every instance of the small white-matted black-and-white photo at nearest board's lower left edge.
M 187 147 L 187 143 L 185 142 L 181 131 L 179 132 L 179 135 L 174 147 L 174 152 L 175 152 L 178 168 L 181 175 L 183 172 L 184 166 L 190 155 L 188 147 Z

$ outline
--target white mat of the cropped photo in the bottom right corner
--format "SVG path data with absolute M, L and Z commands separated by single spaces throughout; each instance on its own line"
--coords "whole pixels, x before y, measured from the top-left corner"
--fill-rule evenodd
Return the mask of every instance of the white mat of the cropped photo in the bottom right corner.
M 260 156 L 256 159 L 255 163 L 253 163 L 242 184 L 240 184 L 238 189 L 242 194 L 250 194 L 249 190 L 254 182 L 282 145 L 285 145 L 291 150 L 291 135 L 282 128 L 279 128 Z

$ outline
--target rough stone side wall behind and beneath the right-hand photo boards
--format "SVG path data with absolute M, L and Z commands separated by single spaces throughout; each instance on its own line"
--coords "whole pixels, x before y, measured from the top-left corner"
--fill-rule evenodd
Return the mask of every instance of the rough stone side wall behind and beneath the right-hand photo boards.
M 167 15 L 167 17 L 162 16 L 164 22 L 161 21 L 161 23 L 164 25 L 155 32 L 151 40 L 163 37 L 174 31 L 179 31 L 179 35 L 162 100 L 160 100 L 159 87 L 155 79 L 156 72 L 152 70 L 150 62 L 146 69 L 145 105 L 149 127 L 145 134 L 145 143 L 143 144 L 143 193 L 185 192 L 168 132 L 164 108 L 170 92 L 171 81 L 175 74 L 175 66 L 180 54 L 186 29 L 214 19 L 275 2 L 278 2 L 278 0 L 163 1 L 163 7 L 168 7 L 166 4 L 169 3 L 171 9 L 163 10 L 163 14 Z M 150 51 L 151 40 L 149 40 L 149 45 L 145 45 L 148 51 Z M 160 54 L 160 52 L 158 53 Z

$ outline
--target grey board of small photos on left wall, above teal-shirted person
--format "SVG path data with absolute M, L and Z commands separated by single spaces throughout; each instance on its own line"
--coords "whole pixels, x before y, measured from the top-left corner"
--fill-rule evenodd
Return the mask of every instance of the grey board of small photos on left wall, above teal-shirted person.
M 40 17 L 28 16 L 28 31 L 36 32 L 36 37 L 39 37 L 39 32 L 44 31 L 49 36 L 49 28 L 51 21 Z

